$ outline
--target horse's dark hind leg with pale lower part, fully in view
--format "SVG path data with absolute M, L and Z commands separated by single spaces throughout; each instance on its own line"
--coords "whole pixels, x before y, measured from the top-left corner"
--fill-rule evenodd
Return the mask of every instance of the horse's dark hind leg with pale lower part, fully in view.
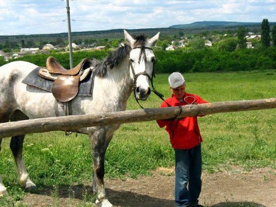
M 19 110 L 15 111 L 11 117 L 11 121 L 20 121 L 23 119 L 28 119 L 26 115 L 24 115 Z M 24 161 L 23 161 L 23 141 L 25 135 L 18 135 L 12 137 L 10 141 L 10 149 L 12 150 L 12 155 L 14 157 L 15 164 L 17 166 L 17 173 L 19 176 L 19 184 L 21 188 L 25 190 L 35 190 L 37 187 L 35 184 L 30 180 L 29 174 L 26 170 Z

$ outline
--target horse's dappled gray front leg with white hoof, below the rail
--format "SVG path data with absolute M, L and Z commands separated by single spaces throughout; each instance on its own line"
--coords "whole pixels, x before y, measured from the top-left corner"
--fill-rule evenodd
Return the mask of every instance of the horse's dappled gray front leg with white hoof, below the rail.
M 92 156 L 93 156 L 93 184 L 92 190 L 97 193 L 96 204 L 102 207 L 110 207 L 112 204 L 106 198 L 106 190 L 104 188 L 104 156 L 112 135 L 107 135 L 104 128 L 100 128 L 97 132 L 90 135 Z

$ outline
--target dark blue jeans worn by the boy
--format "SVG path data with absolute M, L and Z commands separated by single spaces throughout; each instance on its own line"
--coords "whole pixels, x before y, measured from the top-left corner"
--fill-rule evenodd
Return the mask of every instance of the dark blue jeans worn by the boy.
M 175 149 L 175 203 L 196 206 L 201 192 L 201 144 L 188 150 Z

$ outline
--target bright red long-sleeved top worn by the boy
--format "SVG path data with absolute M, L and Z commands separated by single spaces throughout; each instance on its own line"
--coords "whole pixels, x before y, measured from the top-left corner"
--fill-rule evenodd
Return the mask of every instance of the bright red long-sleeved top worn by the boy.
M 201 99 L 201 97 L 185 93 L 184 101 L 179 102 L 175 95 L 172 95 L 169 99 L 166 99 L 166 102 L 170 106 L 185 106 L 191 103 L 208 103 Z M 165 101 L 161 103 L 160 108 L 168 107 L 168 104 Z M 187 103 L 188 102 L 188 103 Z M 197 117 L 184 117 L 179 120 L 173 119 L 171 121 L 157 120 L 157 124 L 160 128 L 166 126 L 166 131 L 170 135 L 170 143 L 172 148 L 175 149 L 190 149 L 194 148 L 201 143 L 202 137 L 199 132 L 199 126 L 197 124 Z

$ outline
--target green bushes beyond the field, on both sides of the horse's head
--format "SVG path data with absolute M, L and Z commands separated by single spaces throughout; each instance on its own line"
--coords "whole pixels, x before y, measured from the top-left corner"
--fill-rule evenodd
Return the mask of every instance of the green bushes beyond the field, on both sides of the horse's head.
M 233 52 L 213 50 L 204 48 L 187 52 L 186 50 L 175 50 L 165 52 L 155 48 L 155 57 L 157 59 L 155 70 L 157 73 L 170 72 L 226 72 L 242 70 L 266 70 L 276 69 L 276 47 L 268 48 L 241 48 Z M 74 66 L 81 59 L 102 60 L 108 56 L 108 50 L 74 52 Z M 46 66 L 46 59 L 49 55 L 26 55 L 19 59 L 36 64 L 37 66 Z M 70 68 L 68 53 L 52 53 L 50 56 L 57 58 L 61 65 Z M 0 66 L 6 61 L 0 60 Z

